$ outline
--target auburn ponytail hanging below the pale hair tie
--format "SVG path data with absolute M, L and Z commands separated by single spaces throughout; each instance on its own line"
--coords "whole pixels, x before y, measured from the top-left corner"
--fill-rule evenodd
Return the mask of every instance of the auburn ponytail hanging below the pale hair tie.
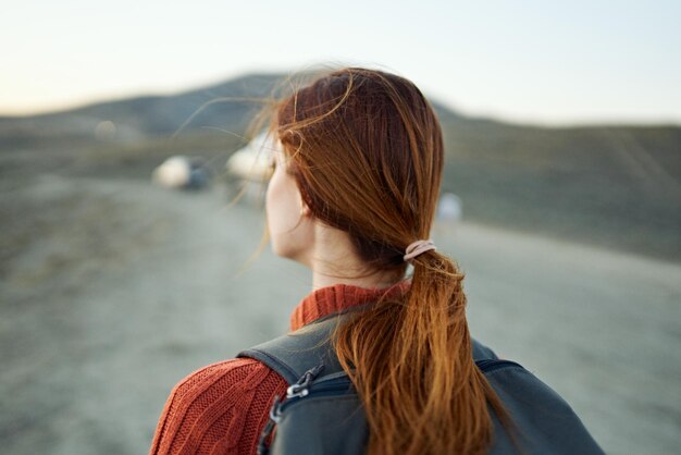
M 463 274 L 444 255 L 413 259 L 403 298 L 379 302 L 334 335 L 363 403 L 369 455 L 485 454 L 493 442 L 487 404 L 510 419 L 475 366 Z

